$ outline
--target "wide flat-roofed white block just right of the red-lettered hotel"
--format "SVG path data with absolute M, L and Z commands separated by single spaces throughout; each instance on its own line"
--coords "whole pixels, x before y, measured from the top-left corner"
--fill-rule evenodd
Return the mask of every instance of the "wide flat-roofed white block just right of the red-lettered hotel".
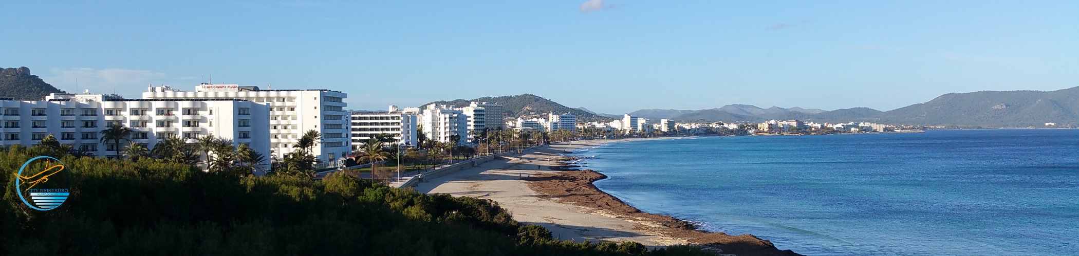
M 416 115 L 399 112 L 391 105 L 385 113 L 352 113 L 352 148 L 358 150 L 372 137 L 388 133 L 401 146 L 416 146 Z

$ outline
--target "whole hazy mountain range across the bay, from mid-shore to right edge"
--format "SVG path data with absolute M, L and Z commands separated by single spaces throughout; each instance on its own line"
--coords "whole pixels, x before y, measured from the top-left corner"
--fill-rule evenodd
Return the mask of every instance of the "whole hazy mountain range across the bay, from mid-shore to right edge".
M 764 122 L 874 122 L 880 124 L 953 127 L 1043 127 L 1046 123 L 1079 125 L 1079 87 L 1053 91 L 1010 90 L 946 94 L 925 103 L 883 112 L 869 108 L 833 111 L 819 109 L 728 104 L 710 110 L 639 110 L 630 112 L 651 120 Z

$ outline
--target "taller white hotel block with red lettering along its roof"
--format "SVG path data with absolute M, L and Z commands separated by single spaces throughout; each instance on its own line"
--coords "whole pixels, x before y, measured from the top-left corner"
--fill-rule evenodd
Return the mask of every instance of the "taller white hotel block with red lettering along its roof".
M 297 148 L 292 145 L 308 130 L 323 136 L 322 143 L 312 150 L 318 160 L 332 162 L 347 155 L 350 114 L 344 99 L 347 95 L 328 89 L 260 89 L 258 86 L 206 84 L 194 91 L 183 91 L 168 86 L 150 87 L 144 99 L 243 99 L 269 108 L 270 146 L 278 159 Z M 260 123 L 261 124 L 261 123 Z

